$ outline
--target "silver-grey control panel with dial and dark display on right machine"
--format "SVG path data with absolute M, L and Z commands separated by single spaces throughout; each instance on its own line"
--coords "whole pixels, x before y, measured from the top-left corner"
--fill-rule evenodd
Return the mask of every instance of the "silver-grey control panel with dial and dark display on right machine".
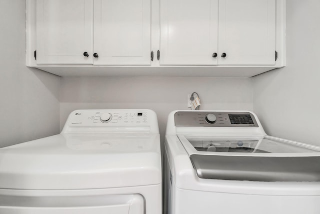
M 178 111 L 176 127 L 258 127 L 250 112 Z

